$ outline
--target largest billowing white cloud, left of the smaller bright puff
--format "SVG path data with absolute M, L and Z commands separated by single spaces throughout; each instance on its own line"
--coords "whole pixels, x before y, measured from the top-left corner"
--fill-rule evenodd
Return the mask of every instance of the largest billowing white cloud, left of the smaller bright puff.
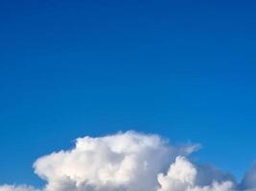
M 35 161 L 35 173 L 47 180 L 47 191 L 153 190 L 156 175 L 194 145 L 176 148 L 158 136 L 134 132 L 104 138 L 78 138 L 76 147 Z M 189 152 L 188 152 L 189 151 Z M 63 184 L 64 182 L 64 184 Z

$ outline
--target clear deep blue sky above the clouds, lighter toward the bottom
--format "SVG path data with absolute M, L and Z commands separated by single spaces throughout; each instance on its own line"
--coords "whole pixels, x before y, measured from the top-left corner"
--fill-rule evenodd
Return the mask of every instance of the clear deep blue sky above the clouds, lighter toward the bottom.
M 0 183 L 38 157 L 133 129 L 256 159 L 255 1 L 0 1 Z

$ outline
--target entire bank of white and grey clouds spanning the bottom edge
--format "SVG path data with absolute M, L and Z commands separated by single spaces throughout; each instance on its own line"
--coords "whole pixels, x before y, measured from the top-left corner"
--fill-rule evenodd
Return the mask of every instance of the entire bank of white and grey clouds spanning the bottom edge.
M 211 165 L 189 160 L 198 145 L 172 146 L 135 132 L 77 138 L 74 148 L 37 159 L 46 185 L 2 185 L 0 191 L 256 191 L 256 166 L 241 183 Z

